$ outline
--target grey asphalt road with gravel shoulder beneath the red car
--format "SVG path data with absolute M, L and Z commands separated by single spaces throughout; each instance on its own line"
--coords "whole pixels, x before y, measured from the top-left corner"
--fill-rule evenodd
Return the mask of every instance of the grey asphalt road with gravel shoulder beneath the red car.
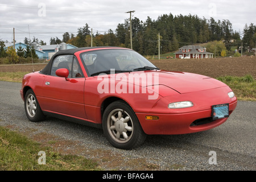
M 103 169 L 115 170 L 256 170 L 256 102 L 238 101 L 237 109 L 223 125 L 185 135 L 151 135 L 134 150 L 112 147 L 103 131 L 76 123 L 47 118 L 33 123 L 24 113 L 21 84 L 0 81 L 0 126 L 54 136 L 61 151 L 98 159 Z M 39 136 L 39 135 L 38 135 Z

